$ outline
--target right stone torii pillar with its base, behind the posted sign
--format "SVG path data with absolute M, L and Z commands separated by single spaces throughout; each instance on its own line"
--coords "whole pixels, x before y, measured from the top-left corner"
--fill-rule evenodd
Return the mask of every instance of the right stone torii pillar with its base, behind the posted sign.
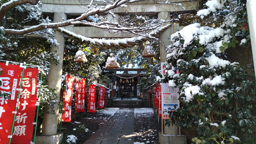
M 164 19 L 164 20 L 170 20 L 170 12 L 160 12 L 158 13 L 158 19 Z M 176 24 L 173 24 L 176 25 Z M 176 28 L 176 26 L 175 26 Z M 167 46 L 169 46 L 171 43 L 168 40 L 168 38 L 171 37 L 171 35 L 176 31 L 174 29 L 174 26 L 171 28 L 166 29 L 164 32 L 159 34 L 159 53 L 160 53 L 160 62 L 165 62 L 166 61 L 166 55 L 167 53 L 165 52 L 165 49 Z M 163 118 L 163 117 L 162 117 Z M 165 120 L 164 120 L 165 124 Z M 187 138 L 186 136 L 180 136 L 179 135 L 179 126 L 178 125 L 171 125 L 168 127 L 167 125 L 164 126 L 164 133 L 162 135 L 162 132 L 159 133 L 159 143 L 160 144 L 186 144 L 187 143 Z

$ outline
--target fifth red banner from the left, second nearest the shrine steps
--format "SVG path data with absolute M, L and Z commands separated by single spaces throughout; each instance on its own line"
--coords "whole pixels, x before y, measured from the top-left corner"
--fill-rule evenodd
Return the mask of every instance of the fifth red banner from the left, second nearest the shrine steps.
M 88 112 L 95 112 L 96 85 L 89 85 Z

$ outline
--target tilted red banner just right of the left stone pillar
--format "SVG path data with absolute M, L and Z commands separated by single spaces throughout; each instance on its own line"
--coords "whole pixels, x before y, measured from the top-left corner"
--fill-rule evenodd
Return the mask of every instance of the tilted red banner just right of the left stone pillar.
M 74 88 L 75 77 L 66 75 L 65 91 L 64 91 L 64 103 L 62 112 L 62 121 L 71 122 L 71 109 L 72 109 L 72 95 Z

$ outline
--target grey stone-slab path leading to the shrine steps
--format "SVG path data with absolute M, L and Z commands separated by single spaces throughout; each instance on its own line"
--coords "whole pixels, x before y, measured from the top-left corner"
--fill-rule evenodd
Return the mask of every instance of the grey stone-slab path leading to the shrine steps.
M 133 144 L 134 108 L 120 108 L 84 144 Z

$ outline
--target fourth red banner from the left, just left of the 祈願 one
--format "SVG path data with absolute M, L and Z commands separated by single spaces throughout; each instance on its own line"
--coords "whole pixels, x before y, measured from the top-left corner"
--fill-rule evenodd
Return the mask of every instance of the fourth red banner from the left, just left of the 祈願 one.
M 85 79 L 76 79 L 76 112 L 84 112 Z

